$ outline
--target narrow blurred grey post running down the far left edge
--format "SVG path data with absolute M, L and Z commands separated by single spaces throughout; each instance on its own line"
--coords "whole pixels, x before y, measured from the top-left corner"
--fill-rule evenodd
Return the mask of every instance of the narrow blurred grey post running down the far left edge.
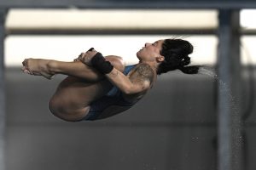
M 3 49 L 5 37 L 4 21 L 6 12 L 7 10 L 0 8 L 0 170 L 5 169 L 5 80 Z

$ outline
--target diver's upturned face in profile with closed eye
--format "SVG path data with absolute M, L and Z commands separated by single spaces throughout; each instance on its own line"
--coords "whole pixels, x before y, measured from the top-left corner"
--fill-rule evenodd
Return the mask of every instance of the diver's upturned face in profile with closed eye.
M 160 50 L 164 40 L 158 40 L 154 43 L 145 43 L 145 46 L 137 52 L 137 58 L 140 61 L 151 61 L 160 56 Z

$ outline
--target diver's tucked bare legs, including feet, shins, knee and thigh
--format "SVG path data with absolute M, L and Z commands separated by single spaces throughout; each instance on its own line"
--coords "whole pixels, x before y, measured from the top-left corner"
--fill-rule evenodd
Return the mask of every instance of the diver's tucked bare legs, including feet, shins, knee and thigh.
M 125 65 L 119 57 L 106 57 L 119 71 Z M 49 111 L 68 121 L 80 121 L 90 110 L 90 103 L 107 94 L 112 84 L 92 67 L 80 61 L 63 62 L 52 59 L 25 59 L 22 70 L 28 74 L 50 78 L 61 73 L 68 75 L 49 100 Z

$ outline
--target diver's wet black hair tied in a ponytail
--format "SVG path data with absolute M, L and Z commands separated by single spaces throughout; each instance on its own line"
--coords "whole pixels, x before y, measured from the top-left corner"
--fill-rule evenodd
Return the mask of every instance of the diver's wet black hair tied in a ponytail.
M 193 49 L 193 45 L 183 39 L 164 40 L 160 54 L 165 57 L 165 60 L 158 66 L 157 74 L 160 75 L 177 69 L 185 74 L 197 74 L 200 66 L 189 65 L 189 54 L 193 53 Z

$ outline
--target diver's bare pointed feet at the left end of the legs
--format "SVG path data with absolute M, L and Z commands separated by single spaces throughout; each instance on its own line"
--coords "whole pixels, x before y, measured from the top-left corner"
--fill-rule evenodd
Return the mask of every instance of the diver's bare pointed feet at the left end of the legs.
M 24 59 L 22 71 L 34 75 L 51 79 L 55 74 L 49 71 L 49 59 Z

